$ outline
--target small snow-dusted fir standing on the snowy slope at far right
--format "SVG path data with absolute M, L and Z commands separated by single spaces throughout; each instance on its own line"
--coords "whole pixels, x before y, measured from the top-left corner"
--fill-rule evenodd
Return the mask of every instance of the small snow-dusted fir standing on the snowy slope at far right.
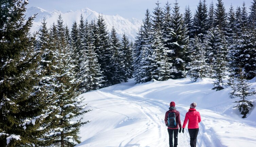
M 250 82 L 245 79 L 242 68 L 240 67 L 239 76 L 236 78 L 234 84 L 231 85 L 232 91 L 230 92 L 230 94 L 232 94 L 232 96 L 235 98 L 240 98 L 240 100 L 234 102 L 236 103 L 236 106 L 234 107 L 238 108 L 239 112 L 241 112 L 241 114 L 243 115 L 242 118 L 246 118 L 246 115 L 253 107 L 253 101 L 247 100 L 247 98 L 249 96 L 253 96 L 254 94 L 256 94 L 256 92 L 250 86 Z

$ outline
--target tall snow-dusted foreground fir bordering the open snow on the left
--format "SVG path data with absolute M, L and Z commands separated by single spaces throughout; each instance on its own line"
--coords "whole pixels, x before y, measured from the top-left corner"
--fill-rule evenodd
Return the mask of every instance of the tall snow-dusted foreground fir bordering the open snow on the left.
M 53 25 L 55 26 L 55 25 Z M 54 27 L 55 28 L 55 27 Z M 74 65 L 72 64 L 72 57 L 68 40 L 65 36 L 68 36 L 68 32 L 65 31 L 63 20 L 59 16 L 57 20 L 56 29 L 52 29 L 51 32 L 53 42 L 56 42 L 53 52 L 55 53 L 54 67 L 55 71 L 53 77 L 55 109 L 57 115 L 54 118 L 55 128 L 49 133 L 44 140 L 49 141 L 49 146 L 74 146 L 80 143 L 80 137 L 78 136 L 79 128 L 81 125 L 87 122 L 81 122 L 80 116 L 88 111 L 83 111 L 85 104 L 82 104 L 81 98 L 78 97 L 80 92 L 78 91 L 79 80 L 75 77 Z M 74 118 L 78 118 L 77 121 L 72 122 Z

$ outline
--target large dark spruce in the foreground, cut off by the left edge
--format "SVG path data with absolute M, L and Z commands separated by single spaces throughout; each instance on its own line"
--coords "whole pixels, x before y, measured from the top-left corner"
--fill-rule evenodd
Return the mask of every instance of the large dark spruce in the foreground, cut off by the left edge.
M 46 88 L 39 84 L 43 50 L 29 36 L 35 15 L 24 19 L 27 1 L 0 2 L 0 146 L 40 144 L 51 118 Z

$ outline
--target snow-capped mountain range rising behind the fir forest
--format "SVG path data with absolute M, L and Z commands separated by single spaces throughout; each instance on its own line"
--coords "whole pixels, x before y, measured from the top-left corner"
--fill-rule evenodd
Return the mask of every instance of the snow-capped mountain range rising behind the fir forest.
M 99 16 L 99 13 L 89 8 L 84 8 L 76 11 L 70 10 L 66 13 L 62 13 L 61 11 L 58 10 L 53 10 L 50 12 L 39 7 L 30 7 L 26 10 L 25 13 L 26 18 L 35 14 L 37 15 L 34 20 L 34 25 L 31 29 L 32 32 L 38 31 L 40 29 L 43 18 L 46 19 L 47 27 L 50 28 L 53 23 L 57 23 L 58 16 L 61 14 L 64 23 L 67 24 L 69 28 L 71 28 L 74 21 L 79 23 L 81 15 L 83 15 L 84 19 L 88 20 L 88 22 L 92 20 L 97 20 Z M 142 24 L 142 21 L 140 20 L 134 18 L 125 19 L 119 15 L 103 15 L 103 18 L 106 21 L 107 29 L 109 31 L 114 26 L 114 28 L 116 29 L 116 33 L 119 37 L 121 37 L 123 33 L 125 33 L 128 36 L 128 38 L 132 41 L 135 40 L 136 33 L 138 32 Z

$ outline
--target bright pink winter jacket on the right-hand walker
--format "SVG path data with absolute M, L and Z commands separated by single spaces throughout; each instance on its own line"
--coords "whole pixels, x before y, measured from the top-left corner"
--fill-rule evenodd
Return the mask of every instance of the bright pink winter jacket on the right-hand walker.
M 187 128 L 189 128 L 189 129 L 199 128 L 198 123 L 201 122 L 200 113 L 195 108 L 188 109 L 188 112 L 186 113 L 182 128 L 185 128 L 187 121 L 188 121 Z

